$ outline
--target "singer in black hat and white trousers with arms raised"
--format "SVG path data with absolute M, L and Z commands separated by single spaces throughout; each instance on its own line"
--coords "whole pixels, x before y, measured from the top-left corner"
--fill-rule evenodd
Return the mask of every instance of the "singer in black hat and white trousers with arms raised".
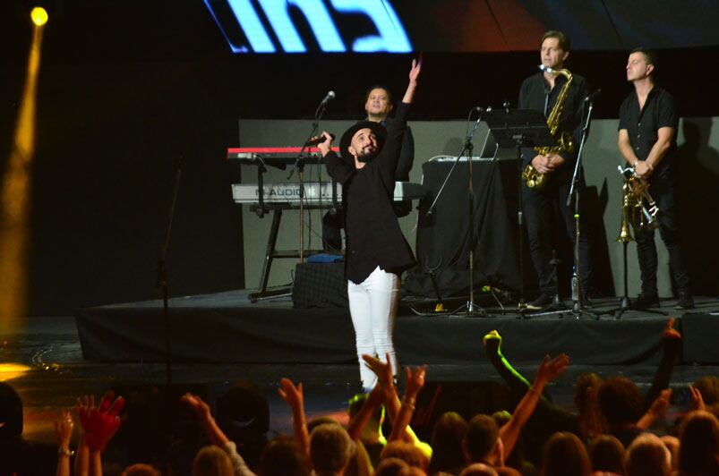
M 407 112 L 415 97 L 420 63 L 412 62 L 407 91 L 387 129 L 381 123 L 360 121 L 342 135 L 333 152 L 331 136 L 322 132 L 318 144 L 328 173 L 342 184 L 347 254 L 345 277 L 357 358 L 364 391 L 377 378 L 364 365 L 364 353 L 386 361 L 396 374 L 392 339 L 399 300 L 399 276 L 415 265 L 415 257 L 392 207 L 395 170 L 407 130 Z

